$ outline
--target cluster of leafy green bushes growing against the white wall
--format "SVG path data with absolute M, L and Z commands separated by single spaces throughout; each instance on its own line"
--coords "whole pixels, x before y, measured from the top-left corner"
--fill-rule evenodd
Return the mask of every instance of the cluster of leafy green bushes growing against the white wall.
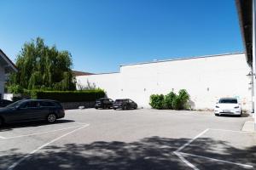
M 189 94 L 185 89 L 181 89 L 178 94 L 170 92 L 169 94 L 152 94 L 150 103 L 154 109 L 174 109 L 182 110 L 188 108 Z

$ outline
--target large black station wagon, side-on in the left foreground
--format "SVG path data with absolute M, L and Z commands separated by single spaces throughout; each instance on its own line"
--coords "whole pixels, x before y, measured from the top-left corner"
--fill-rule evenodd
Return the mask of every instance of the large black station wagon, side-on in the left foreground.
M 11 122 L 46 120 L 53 123 L 65 116 L 58 101 L 48 99 L 24 99 L 0 108 L 0 125 Z

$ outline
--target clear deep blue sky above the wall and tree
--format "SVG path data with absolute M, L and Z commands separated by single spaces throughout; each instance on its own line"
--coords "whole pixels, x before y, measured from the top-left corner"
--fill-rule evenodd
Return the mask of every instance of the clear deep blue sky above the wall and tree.
M 2 0 L 0 48 L 15 61 L 43 37 L 73 55 L 73 69 L 243 51 L 235 0 Z

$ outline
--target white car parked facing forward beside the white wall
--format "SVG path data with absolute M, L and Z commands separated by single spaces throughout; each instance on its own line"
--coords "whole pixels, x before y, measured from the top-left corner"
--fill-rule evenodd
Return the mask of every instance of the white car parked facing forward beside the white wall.
M 221 98 L 218 99 L 214 108 L 214 114 L 220 115 L 237 115 L 241 116 L 241 106 L 236 98 Z

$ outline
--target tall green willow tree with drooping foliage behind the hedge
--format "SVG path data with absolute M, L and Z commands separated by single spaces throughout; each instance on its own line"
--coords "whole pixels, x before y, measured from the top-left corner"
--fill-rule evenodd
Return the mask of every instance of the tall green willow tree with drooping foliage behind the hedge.
M 45 45 L 40 37 L 23 45 L 17 55 L 16 66 L 18 72 L 10 76 L 9 89 L 75 89 L 71 54 Z

